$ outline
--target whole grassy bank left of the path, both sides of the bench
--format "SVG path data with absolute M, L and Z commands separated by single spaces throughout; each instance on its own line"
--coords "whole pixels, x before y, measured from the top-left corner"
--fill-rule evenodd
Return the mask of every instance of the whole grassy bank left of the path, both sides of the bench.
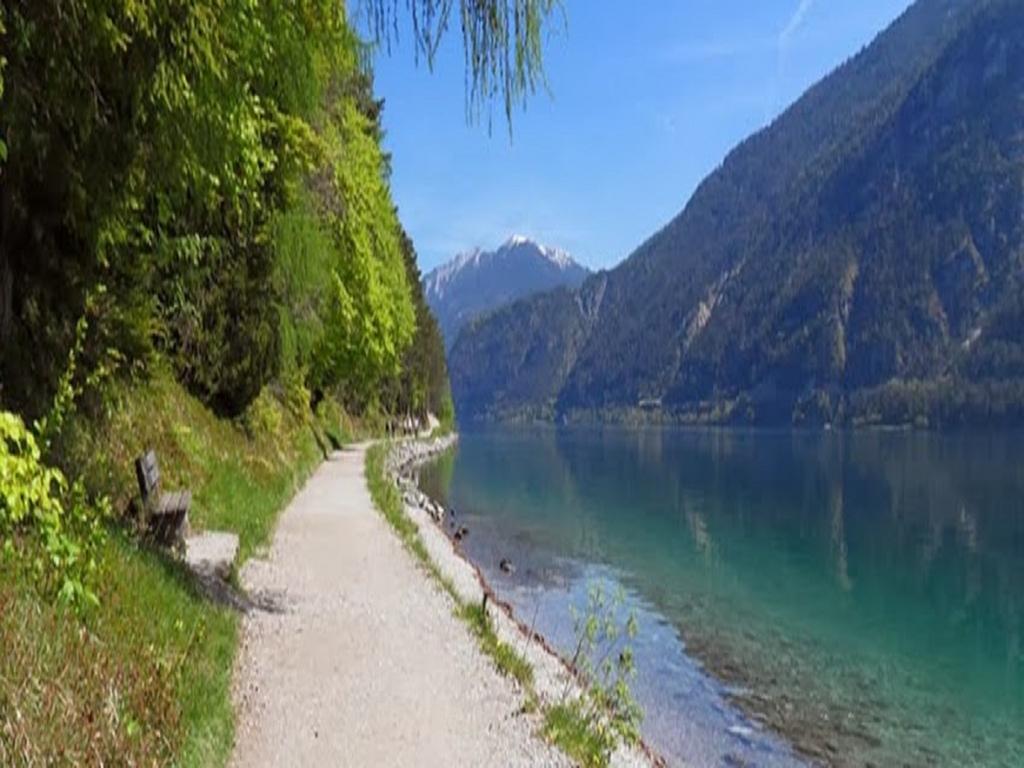
M 287 394 L 264 393 L 227 421 L 158 375 L 118 392 L 106 416 L 73 422 L 60 461 L 124 510 L 132 461 L 155 449 L 166 485 L 194 492 L 193 526 L 239 532 L 245 558 L 268 541 L 327 432 L 343 437 L 339 417 L 311 419 Z M 79 616 L 0 572 L 0 765 L 223 765 L 238 616 L 120 524 L 95 590 L 98 607 Z

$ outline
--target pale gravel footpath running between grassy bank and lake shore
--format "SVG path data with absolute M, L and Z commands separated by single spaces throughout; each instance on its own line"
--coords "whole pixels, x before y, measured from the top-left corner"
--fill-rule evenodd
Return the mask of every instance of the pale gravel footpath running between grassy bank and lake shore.
M 236 766 L 564 765 L 336 454 L 242 582 Z

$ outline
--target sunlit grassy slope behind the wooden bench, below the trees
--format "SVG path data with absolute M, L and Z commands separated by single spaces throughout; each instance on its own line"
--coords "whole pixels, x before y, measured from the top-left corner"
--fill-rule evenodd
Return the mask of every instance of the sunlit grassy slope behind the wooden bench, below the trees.
M 251 413 L 257 418 L 217 418 L 169 374 L 157 375 L 118 393 L 101 423 L 73 423 L 61 463 L 123 509 L 137 493 L 135 457 L 156 450 L 165 488 L 193 492 L 193 526 L 239 534 L 244 562 L 269 540 L 278 513 L 323 458 L 326 442 L 322 425 L 270 395 L 261 395 Z

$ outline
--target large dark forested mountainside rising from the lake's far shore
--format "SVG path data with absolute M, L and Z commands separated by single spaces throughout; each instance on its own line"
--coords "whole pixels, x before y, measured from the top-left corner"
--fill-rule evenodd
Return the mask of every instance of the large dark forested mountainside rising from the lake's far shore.
M 450 353 L 464 419 L 1024 422 L 1024 4 L 919 0 L 615 269 Z

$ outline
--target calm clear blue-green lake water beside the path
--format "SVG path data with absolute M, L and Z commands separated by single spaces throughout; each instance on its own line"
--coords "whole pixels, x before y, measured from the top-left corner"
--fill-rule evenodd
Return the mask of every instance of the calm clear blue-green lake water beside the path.
M 421 484 L 556 645 L 626 590 L 670 760 L 1024 765 L 1024 435 L 495 428 Z

